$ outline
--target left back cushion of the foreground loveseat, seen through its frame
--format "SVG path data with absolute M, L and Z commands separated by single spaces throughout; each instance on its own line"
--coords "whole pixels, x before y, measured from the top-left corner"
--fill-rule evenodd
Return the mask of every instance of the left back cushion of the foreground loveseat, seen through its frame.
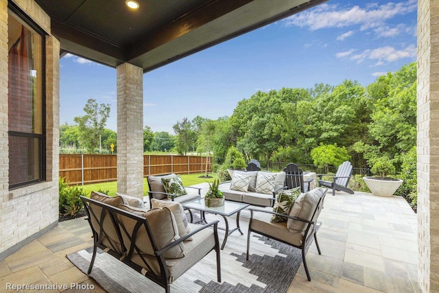
M 90 198 L 92 200 L 97 200 L 98 202 L 109 204 L 112 207 L 117 207 L 119 204 L 123 204 L 123 199 L 120 196 L 111 197 L 96 191 L 91 192 Z M 96 204 L 90 204 L 89 208 L 91 209 L 91 224 L 97 233 L 99 233 L 101 230 L 100 226 L 102 224 L 102 228 L 104 230 L 104 234 L 102 235 L 101 239 L 102 245 L 116 251 L 119 254 L 123 253 L 123 244 L 121 244 L 117 230 L 112 224 L 110 214 L 105 212 L 102 223 L 99 224 L 102 215 L 102 207 L 99 207 Z

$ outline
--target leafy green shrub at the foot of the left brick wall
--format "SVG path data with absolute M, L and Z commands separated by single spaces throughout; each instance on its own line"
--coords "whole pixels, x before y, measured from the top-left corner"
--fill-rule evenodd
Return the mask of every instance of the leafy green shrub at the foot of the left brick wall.
M 60 205 L 59 213 L 61 215 L 70 215 L 75 217 L 84 208 L 80 196 L 86 196 L 82 187 L 70 187 L 64 178 L 60 178 Z

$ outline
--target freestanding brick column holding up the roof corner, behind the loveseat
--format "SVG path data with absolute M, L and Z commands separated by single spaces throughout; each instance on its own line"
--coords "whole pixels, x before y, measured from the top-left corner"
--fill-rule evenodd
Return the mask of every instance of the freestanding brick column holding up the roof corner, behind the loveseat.
M 117 67 L 117 191 L 143 198 L 143 69 Z

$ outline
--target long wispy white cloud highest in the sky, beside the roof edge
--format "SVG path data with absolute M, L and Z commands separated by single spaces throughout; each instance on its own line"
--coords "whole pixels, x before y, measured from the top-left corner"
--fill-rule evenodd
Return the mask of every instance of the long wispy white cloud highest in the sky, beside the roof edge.
M 416 0 L 383 5 L 366 5 L 360 8 L 339 8 L 337 5 L 322 4 L 311 10 L 305 10 L 285 19 L 287 26 L 309 27 L 309 30 L 320 30 L 328 27 L 347 27 L 360 25 L 360 30 L 380 27 L 388 19 L 415 11 Z

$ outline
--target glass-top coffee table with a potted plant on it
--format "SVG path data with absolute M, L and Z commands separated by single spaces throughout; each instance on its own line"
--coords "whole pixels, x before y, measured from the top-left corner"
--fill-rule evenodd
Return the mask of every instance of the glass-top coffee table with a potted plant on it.
M 182 206 L 185 207 L 186 209 L 195 209 L 197 211 L 200 211 L 200 215 L 201 215 L 200 222 L 206 222 L 204 213 L 214 213 L 215 215 L 222 216 L 224 222 L 226 223 L 226 228 L 221 228 L 221 227 L 218 228 L 226 231 L 226 233 L 221 245 L 221 249 L 224 249 L 224 245 L 226 245 L 228 235 L 232 234 L 235 231 L 239 231 L 241 235 L 244 235 L 244 233 L 242 233 L 241 231 L 241 228 L 239 228 L 239 213 L 241 213 L 243 209 L 246 209 L 246 207 L 250 206 L 250 204 L 244 204 L 241 202 L 230 202 L 228 200 L 224 200 L 224 206 L 222 207 L 206 207 L 206 205 L 204 205 L 204 198 L 199 198 L 191 202 L 185 202 L 182 204 Z M 228 227 L 227 217 L 230 217 L 230 215 L 234 215 L 235 213 L 237 214 L 236 228 L 230 230 L 230 228 Z

